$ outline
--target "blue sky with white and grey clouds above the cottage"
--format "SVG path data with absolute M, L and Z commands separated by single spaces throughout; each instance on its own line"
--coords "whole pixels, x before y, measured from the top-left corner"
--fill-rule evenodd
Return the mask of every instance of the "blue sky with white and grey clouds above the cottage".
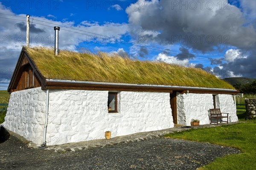
M 116 52 L 198 67 L 220 78 L 256 78 L 255 0 L 0 2 L 0 89 L 7 89 L 25 45 L 26 14 L 30 46 L 53 46 L 53 26 L 61 25 L 61 49 Z

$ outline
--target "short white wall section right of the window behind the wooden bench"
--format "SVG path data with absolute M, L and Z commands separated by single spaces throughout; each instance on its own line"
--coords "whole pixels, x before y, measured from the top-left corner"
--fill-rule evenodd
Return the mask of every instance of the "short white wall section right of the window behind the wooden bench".
M 216 95 L 216 105 L 216 108 L 220 108 L 221 112 L 229 113 L 229 123 L 238 121 L 236 107 L 232 95 Z

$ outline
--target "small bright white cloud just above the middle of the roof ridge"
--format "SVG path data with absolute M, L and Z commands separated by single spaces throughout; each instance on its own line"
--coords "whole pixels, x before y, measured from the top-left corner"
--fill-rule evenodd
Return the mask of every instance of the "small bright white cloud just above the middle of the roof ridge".
M 178 60 L 175 56 L 169 56 L 164 53 L 159 53 L 156 57 L 157 61 L 164 61 L 166 63 L 172 63 L 172 64 L 178 64 L 182 66 L 188 66 L 189 65 L 189 60 Z

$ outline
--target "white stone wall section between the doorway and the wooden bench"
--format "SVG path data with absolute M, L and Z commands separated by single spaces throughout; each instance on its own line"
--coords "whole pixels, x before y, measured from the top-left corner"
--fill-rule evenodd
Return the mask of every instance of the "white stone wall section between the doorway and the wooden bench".
M 177 93 L 178 124 L 190 125 L 192 119 L 209 124 L 209 109 L 213 108 L 212 94 Z

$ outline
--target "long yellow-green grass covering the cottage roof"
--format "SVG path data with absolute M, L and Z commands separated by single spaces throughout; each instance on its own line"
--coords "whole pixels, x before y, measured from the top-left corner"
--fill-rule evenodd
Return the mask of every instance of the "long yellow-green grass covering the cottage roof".
M 49 48 L 27 48 L 47 79 L 152 84 L 234 89 L 202 69 L 160 61 L 138 61 L 117 54 L 61 50 L 58 56 Z

